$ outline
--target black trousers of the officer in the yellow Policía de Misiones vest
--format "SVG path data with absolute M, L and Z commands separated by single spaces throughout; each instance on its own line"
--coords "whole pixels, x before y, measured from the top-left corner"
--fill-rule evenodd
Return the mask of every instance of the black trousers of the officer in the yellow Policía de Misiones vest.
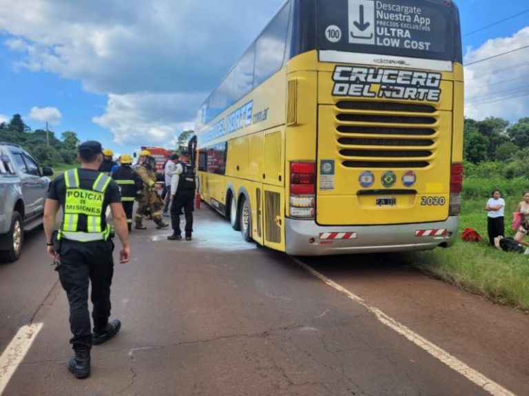
M 92 329 L 88 311 L 88 285 L 92 283 L 94 332 L 104 331 L 110 317 L 110 285 L 114 275 L 112 240 L 77 242 L 61 239 L 57 267 L 61 285 L 70 303 L 70 343 L 74 350 L 92 347 Z

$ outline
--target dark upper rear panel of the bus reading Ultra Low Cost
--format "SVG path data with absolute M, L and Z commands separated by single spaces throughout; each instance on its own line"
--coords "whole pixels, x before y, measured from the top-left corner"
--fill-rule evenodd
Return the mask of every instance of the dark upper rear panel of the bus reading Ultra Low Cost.
M 318 50 L 461 62 L 451 1 L 317 0 Z

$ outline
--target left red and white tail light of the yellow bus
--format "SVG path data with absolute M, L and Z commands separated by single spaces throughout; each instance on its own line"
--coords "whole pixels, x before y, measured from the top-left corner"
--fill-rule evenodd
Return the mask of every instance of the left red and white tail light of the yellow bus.
M 290 163 L 290 217 L 314 219 L 316 201 L 315 162 Z

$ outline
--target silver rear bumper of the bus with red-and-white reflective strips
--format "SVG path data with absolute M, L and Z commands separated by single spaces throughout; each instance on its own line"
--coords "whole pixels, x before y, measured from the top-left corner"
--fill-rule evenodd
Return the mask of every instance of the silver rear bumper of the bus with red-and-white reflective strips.
M 286 252 L 293 256 L 324 256 L 448 248 L 455 243 L 458 229 L 457 216 L 433 223 L 342 227 L 285 219 Z

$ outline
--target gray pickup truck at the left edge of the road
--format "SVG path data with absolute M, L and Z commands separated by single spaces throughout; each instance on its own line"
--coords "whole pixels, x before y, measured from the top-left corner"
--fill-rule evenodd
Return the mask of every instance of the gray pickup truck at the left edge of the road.
M 0 259 L 19 258 L 24 232 L 43 221 L 52 168 L 39 168 L 21 146 L 0 142 Z

